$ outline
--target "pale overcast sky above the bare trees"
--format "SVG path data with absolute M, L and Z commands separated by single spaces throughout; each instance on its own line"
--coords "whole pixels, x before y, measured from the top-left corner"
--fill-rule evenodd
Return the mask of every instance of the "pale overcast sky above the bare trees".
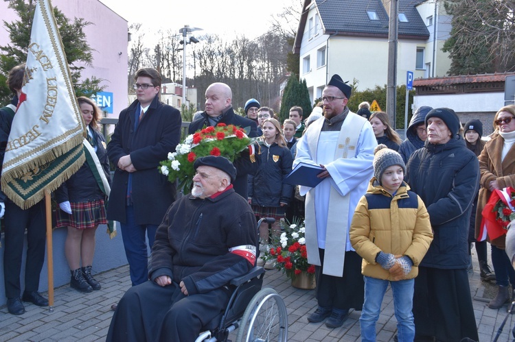
M 200 27 L 201 34 L 255 38 L 268 31 L 271 15 L 295 0 L 100 0 L 129 23 L 142 23 L 145 30 L 171 29 L 179 34 L 184 25 Z

